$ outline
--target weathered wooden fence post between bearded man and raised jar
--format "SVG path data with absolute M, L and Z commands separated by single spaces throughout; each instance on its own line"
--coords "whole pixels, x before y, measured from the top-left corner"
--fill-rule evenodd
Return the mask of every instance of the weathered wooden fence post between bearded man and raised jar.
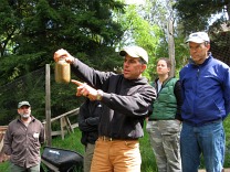
M 45 137 L 46 144 L 51 147 L 51 92 L 50 92 L 50 64 L 45 65 Z

